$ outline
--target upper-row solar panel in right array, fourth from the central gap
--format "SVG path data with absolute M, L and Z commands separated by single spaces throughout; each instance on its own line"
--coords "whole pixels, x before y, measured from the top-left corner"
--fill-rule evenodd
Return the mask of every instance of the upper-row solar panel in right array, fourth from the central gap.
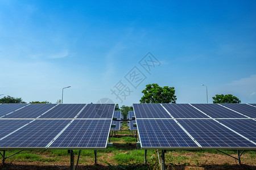
M 245 116 L 249 116 L 251 118 L 256 118 L 256 107 L 252 107 L 247 104 L 221 104 L 224 107 L 230 108 L 233 111 L 244 114 Z

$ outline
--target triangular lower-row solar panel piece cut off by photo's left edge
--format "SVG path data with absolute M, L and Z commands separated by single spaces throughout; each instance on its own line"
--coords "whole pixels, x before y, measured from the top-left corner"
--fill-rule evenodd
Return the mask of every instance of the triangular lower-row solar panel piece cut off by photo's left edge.
M 16 129 L 28 124 L 31 120 L 0 120 L 1 130 L 0 138 L 12 133 Z

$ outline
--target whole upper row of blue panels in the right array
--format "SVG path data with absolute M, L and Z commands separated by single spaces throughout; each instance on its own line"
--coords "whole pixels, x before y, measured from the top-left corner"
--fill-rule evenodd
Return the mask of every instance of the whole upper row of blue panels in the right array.
M 256 107 L 248 104 L 133 105 L 136 118 L 256 118 Z

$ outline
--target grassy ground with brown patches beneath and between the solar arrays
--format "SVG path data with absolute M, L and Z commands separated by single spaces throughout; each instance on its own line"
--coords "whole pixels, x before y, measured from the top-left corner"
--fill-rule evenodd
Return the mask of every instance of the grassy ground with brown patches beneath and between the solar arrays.
M 94 164 L 93 150 L 82 150 L 77 169 L 159 169 L 155 150 L 147 151 L 147 164 L 144 164 L 144 150 L 137 150 L 135 138 L 123 124 L 122 131 L 110 140 L 113 148 L 97 151 L 97 164 Z M 17 151 L 7 151 L 9 156 Z M 75 150 L 75 162 L 79 151 Z M 237 151 L 224 152 L 237 158 Z M 245 151 L 241 156 L 242 165 L 236 159 L 216 150 L 166 152 L 168 169 L 256 169 L 255 151 Z M 2 162 L 1 162 L 2 163 Z M 6 159 L 0 169 L 69 169 L 70 155 L 67 150 L 22 151 Z

